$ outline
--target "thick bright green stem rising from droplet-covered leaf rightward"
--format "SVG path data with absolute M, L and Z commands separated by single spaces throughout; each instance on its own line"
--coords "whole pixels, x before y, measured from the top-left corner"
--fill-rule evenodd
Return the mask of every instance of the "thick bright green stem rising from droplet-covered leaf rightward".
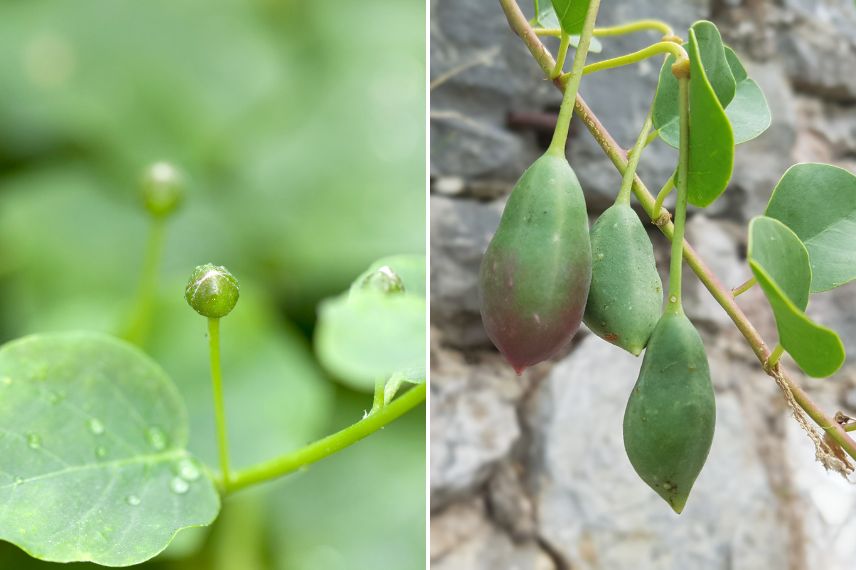
M 364 419 L 333 435 L 277 459 L 236 472 L 231 484 L 228 486 L 228 491 L 237 491 L 251 485 L 288 475 L 353 445 L 424 402 L 425 391 L 425 383 L 423 382 L 414 386 L 376 413 L 369 414 Z

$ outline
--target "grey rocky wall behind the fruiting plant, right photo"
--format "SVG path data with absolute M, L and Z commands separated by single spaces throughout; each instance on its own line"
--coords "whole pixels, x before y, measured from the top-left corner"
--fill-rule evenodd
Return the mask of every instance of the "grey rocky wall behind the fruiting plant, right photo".
M 543 0 L 547 1 L 547 0 Z M 523 8 L 531 13 L 529 0 Z M 581 331 L 566 354 L 522 378 L 487 340 L 478 265 L 507 194 L 546 148 L 560 95 L 509 30 L 497 2 L 433 0 L 431 74 L 431 559 L 442 570 L 755 570 L 856 568 L 856 487 L 826 473 L 725 312 L 688 273 L 718 395 L 710 458 L 684 514 L 635 475 L 621 422 L 640 360 Z M 856 168 L 856 7 L 852 0 L 605 0 L 598 23 L 658 17 L 685 30 L 715 21 L 767 95 L 773 126 L 738 147 L 732 186 L 688 238 L 719 278 L 749 277 L 746 222 L 793 163 Z M 684 32 L 685 35 L 685 32 Z M 606 38 L 613 57 L 656 38 Z M 555 44 L 551 44 L 555 48 Z M 586 78 L 581 93 L 630 146 L 659 62 Z M 620 178 L 579 121 L 569 158 L 594 218 Z M 640 173 L 659 188 L 675 152 L 649 147 Z M 661 269 L 667 242 L 651 231 Z M 856 285 L 815 297 L 809 313 L 856 354 Z M 764 337 L 763 295 L 740 304 Z M 789 370 L 792 363 L 785 360 Z M 856 415 L 856 361 L 800 377 L 830 413 Z

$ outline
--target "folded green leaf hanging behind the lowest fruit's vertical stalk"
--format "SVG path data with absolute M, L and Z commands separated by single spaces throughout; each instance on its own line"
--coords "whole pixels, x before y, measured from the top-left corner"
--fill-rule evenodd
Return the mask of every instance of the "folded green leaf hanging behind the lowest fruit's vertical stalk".
M 696 37 L 696 27 L 702 32 Z M 706 207 L 725 191 L 734 168 L 734 132 L 722 103 L 707 76 L 705 65 L 711 62 L 718 78 L 721 95 L 729 94 L 726 74 L 722 67 L 725 56 L 719 32 L 713 24 L 698 22 L 689 30 L 685 45 L 690 57 L 690 159 L 687 174 L 689 202 Z M 715 32 L 715 34 L 714 34 Z M 722 58 L 719 57 L 722 52 Z M 721 61 L 720 61 L 721 60 Z M 674 56 L 667 58 L 660 69 L 660 82 L 654 98 L 652 119 L 663 140 L 677 147 L 679 143 L 678 80 L 672 74 Z M 727 65 L 726 65 L 727 67 Z

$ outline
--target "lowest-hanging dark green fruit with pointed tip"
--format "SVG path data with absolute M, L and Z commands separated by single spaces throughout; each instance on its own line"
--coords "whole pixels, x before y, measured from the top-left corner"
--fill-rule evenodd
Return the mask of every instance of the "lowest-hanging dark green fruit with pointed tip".
M 716 423 L 701 337 L 683 312 L 657 323 L 624 412 L 624 449 L 636 473 L 680 514 Z

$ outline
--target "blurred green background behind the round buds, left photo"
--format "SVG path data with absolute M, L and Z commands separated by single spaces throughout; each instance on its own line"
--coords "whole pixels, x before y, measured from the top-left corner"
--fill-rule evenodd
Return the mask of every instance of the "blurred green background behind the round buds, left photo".
M 117 332 L 148 221 L 138 179 L 188 176 L 147 351 L 214 464 L 205 320 L 182 294 L 226 265 L 223 367 L 238 466 L 353 423 L 371 396 L 311 351 L 320 299 L 425 251 L 421 0 L 0 1 L 0 337 Z M 424 410 L 304 473 L 229 498 L 151 568 L 423 568 Z M 0 543 L 0 568 L 42 568 Z M 87 565 L 71 565 L 72 568 Z

